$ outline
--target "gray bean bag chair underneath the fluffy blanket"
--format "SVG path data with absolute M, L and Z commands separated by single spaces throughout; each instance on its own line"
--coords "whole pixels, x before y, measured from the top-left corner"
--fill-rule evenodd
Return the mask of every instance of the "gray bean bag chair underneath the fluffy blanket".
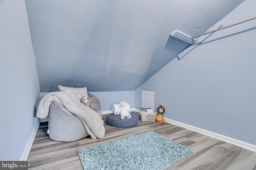
M 88 99 L 94 111 L 102 118 L 100 101 L 88 93 Z M 71 142 L 88 136 L 82 121 L 57 102 L 52 102 L 49 109 L 49 137 L 54 141 Z

